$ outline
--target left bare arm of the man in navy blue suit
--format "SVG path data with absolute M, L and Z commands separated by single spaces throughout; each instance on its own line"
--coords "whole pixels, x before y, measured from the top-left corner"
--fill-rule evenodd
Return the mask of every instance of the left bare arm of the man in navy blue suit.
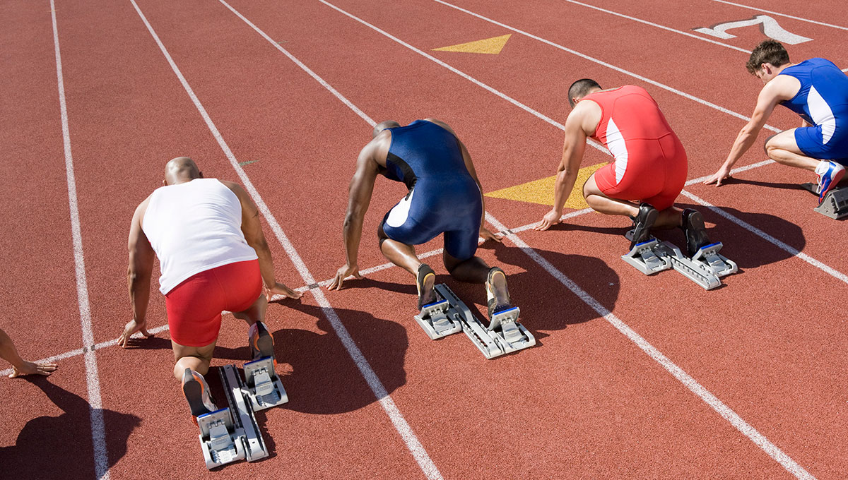
M 362 240 L 362 223 L 365 212 L 371 204 L 371 193 L 374 191 L 374 182 L 377 180 L 379 164 L 374 160 L 376 141 L 371 141 L 360 152 L 356 160 L 356 172 L 350 179 L 348 188 L 348 212 L 344 216 L 343 239 L 344 252 L 347 262 L 336 272 L 329 290 L 341 290 L 342 283 L 349 275 L 360 279 L 360 268 L 357 258 L 360 252 L 360 240 Z

